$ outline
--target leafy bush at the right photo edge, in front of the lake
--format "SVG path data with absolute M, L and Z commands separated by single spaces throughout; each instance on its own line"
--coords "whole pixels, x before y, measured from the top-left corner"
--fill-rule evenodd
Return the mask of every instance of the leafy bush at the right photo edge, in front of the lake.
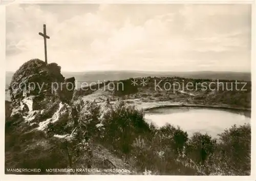
M 233 125 L 219 134 L 220 143 L 216 162 L 224 174 L 249 175 L 251 152 L 251 128 L 249 124 Z

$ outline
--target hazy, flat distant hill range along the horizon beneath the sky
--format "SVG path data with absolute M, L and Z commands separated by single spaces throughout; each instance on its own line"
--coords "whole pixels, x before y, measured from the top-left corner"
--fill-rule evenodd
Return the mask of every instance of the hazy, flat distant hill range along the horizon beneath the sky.
M 6 87 L 8 87 L 13 76 L 13 72 L 6 72 Z M 146 72 L 146 71 L 91 71 L 91 72 L 62 72 L 65 77 L 75 77 L 75 79 L 81 82 L 98 81 L 113 81 L 113 80 L 124 80 L 129 78 L 139 77 L 183 77 L 192 79 L 221 79 L 221 80 L 251 80 L 251 73 L 249 72 Z M 79 84 L 78 84 L 78 87 Z

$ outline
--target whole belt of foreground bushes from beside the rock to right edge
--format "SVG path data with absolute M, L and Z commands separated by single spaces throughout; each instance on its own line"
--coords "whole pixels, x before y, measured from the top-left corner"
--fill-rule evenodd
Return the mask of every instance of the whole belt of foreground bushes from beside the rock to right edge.
M 144 111 L 123 101 L 106 101 L 101 109 L 95 102 L 78 101 L 77 105 L 81 139 L 93 138 L 135 166 L 138 173 L 250 174 L 250 125 L 232 126 L 217 142 L 199 132 L 188 138 L 187 132 L 170 124 L 157 129 L 146 123 Z

